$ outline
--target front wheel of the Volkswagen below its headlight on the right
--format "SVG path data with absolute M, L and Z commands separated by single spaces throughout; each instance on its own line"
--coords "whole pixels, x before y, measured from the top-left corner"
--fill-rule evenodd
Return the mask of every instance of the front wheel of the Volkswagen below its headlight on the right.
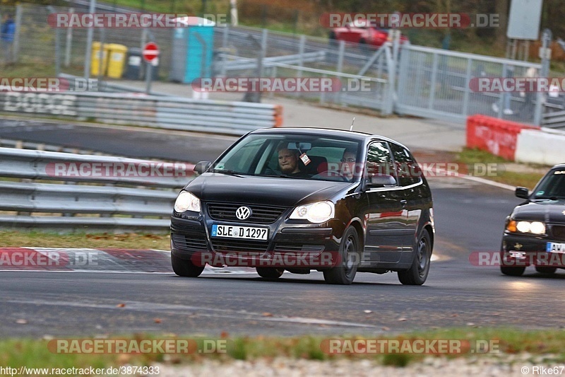
M 328 284 L 349 285 L 355 279 L 359 265 L 359 236 L 353 226 L 343 233 L 340 243 L 340 261 L 337 267 L 326 269 L 323 279 Z

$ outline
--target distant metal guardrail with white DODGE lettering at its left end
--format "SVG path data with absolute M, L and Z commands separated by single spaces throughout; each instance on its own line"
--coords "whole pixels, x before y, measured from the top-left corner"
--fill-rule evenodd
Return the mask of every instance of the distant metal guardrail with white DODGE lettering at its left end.
M 283 122 L 280 105 L 140 93 L 2 92 L 0 111 L 233 135 Z

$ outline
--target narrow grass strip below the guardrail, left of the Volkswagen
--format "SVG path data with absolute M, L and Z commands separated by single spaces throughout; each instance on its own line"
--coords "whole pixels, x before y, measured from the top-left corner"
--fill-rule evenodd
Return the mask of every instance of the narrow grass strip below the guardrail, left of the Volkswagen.
M 42 248 L 126 248 L 170 250 L 169 234 L 73 233 L 0 231 L 0 247 Z

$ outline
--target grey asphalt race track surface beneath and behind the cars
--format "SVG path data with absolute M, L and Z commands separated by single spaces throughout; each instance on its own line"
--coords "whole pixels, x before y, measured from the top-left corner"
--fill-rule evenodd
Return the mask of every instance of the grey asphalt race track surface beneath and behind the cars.
M 69 129 L 39 132 L 26 127 L 2 127 L 0 137 L 11 134 L 12 139 L 48 142 L 47 137 L 61 141 L 66 132 L 75 146 L 83 142 L 81 132 L 69 135 Z M 113 153 L 133 156 L 135 150 L 147 151 L 145 146 L 153 144 L 150 151 L 158 150 L 161 158 L 191 162 L 221 149 L 218 140 L 201 138 L 183 153 L 194 153 L 196 159 L 193 155 L 178 158 L 182 151 L 177 151 L 177 145 L 194 138 L 150 132 L 143 137 L 131 132 L 129 139 L 137 139 L 124 143 L 119 132 L 102 130 L 90 130 L 88 149 L 95 149 L 93 140 L 97 139 L 108 149 L 119 145 Z M 223 140 L 230 144 L 228 139 Z M 432 178 L 430 185 L 436 217 L 434 253 L 439 260 L 432 262 L 424 286 L 403 286 L 392 273 L 357 274 L 351 286 L 331 286 L 319 272 L 285 272 L 278 281 L 268 282 L 253 272 L 207 273 L 189 279 L 172 272 L 2 271 L 0 336 L 131 332 L 219 336 L 223 331 L 230 335 L 371 335 L 452 326 L 561 327 L 565 303 L 559 292 L 565 284 L 564 270 L 547 277 L 530 267 L 517 278 L 501 275 L 498 267 L 470 262 L 474 252 L 499 250 L 504 218 L 520 199 L 510 190 L 461 178 Z M 25 324 L 17 323 L 22 319 Z

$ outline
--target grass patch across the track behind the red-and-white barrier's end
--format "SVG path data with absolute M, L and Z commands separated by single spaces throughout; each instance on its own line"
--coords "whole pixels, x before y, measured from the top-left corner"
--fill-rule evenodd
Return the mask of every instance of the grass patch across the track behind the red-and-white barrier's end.
M 516 186 L 516 187 L 528 187 L 528 189 L 533 189 L 533 187 L 539 182 L 539 180 L 545 175 L 549 167 L 546 166 L 535 166 L 535 165 L 523 165 L 523 171 L 512 171 L 510 170 L 513 164 L 499 156 L 494 156 L 492 153 L 487 151 L 481 151 L 479 149 L 469 149 L 465 148 L 456 157 L 456 162 L 465 163 L 468 165 L 472 164 L 496 164 L 497 171 L 496 175 L 487 176 L 489 180 L 494 180 L 496 182 L 505 183 L 506 185 Z M 519 166 L 516 166 L 514 170 L 520 170 Z M 532 170 L 532 172 L 528 172 Z

